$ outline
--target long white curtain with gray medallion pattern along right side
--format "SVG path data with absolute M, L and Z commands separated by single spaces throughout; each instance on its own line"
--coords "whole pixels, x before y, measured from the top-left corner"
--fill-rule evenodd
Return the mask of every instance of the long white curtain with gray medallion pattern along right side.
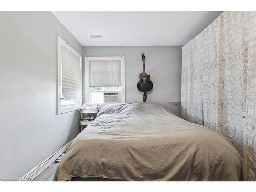
M 228 138 L 256 180 L 256 12 L 225 11 L 182 49 L 182 118 Z

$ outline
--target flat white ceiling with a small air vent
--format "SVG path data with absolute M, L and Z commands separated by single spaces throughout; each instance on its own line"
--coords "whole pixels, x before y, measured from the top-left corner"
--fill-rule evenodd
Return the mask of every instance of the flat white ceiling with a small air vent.
M 222 11 L 53 11 L 82 46 L 185 45 Z M 91 38 L 89 35 L 102 35 Z

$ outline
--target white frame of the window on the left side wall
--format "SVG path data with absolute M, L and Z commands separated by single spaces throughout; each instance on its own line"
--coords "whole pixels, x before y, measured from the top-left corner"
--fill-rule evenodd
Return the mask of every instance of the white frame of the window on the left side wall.
M 82 98 L 77 99 L 78 104 L 70 104 L 70 105 L 62 105 L 62 55 L 61 55 L 61 46 L 65 46 L 67 49 L 72 51 L 75 55 L 80 58 L 80 67 L 81 67 L 81 74 L 82 74 L 82 56 L 79 54 L 74 48 L 72 48 L 64 39 L 60 36 L 58 37 L 58 44 L 57 44 L 57 63 L 58 63 L 58 75 L 57 75 L 57 113 L 67 113 L 71 111 L 78 110 L 79 107 L 82 105 Z M 81 82 L 82 82 L 82 75 L 81 75 Z M 76 100 L 76 99 L 74 99 Z

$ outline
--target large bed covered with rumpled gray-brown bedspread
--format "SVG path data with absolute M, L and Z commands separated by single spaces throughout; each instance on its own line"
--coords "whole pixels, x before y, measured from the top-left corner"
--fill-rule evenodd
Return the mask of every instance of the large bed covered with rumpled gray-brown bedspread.
M 161 105 L 108 104 L 74 139 L 54 181 L 239 181 L 241 164 L 220 134 Z

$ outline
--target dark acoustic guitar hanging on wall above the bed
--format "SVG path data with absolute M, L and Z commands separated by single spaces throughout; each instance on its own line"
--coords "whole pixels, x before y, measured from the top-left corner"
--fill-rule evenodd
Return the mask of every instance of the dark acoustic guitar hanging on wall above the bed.
M 146 74 L 146 70 L 145 70 L 145 54 L 144 52 L 141 55 L 142 61 L 143 61 L 143 72 L 139 74 L 139 82 L 137 83 L 137 88 L 140 91 L 144 92 L 143 95 L 143 101 L 146 102 L 146 98 L 147 98 L 147 92 L 152 90 L 153 88 L 153 83 L 150 80 L 150 75 Z

